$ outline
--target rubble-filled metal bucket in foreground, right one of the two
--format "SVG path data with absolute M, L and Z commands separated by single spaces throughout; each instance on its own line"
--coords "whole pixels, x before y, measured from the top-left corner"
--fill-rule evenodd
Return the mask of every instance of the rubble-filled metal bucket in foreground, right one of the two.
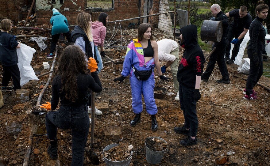
M 168 143 L 159 137 L 148 137 L 145 139 L 146 161 L 149 164 L 159 164 L 163 155 L 168 152 Z

